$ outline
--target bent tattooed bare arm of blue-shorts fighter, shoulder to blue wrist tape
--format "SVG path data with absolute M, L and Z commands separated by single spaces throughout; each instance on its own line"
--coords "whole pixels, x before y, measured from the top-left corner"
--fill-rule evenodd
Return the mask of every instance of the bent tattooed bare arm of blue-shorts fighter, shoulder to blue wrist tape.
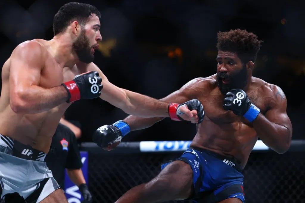
M 265 116 L 259 114 L 252 122 L 260 139 L 271 149 L 282 154 L 290 147 L 292 124 L 286 113 L 287 99 L 282 89 L 273 88 L 274 99 Z

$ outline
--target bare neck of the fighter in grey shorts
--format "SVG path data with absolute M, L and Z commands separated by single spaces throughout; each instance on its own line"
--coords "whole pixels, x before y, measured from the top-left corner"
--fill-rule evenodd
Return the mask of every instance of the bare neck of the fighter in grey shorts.
M 52 54 L 55 60 L 63 67 L 72 68 L 79 60 L 73 51 L 73 42 L 67 33 L 54 36 L 51 40 Z

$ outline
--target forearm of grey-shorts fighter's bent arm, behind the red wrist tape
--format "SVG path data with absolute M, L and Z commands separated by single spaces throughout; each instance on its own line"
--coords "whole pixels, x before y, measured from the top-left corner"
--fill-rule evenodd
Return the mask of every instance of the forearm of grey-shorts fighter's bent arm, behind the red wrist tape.
M 68 93 L 63 86 L 44 89 L 33 85 L 19 90 L 10 97 L 11 107 L 16 113 L 37 114 L 64 103 L 68 98 Z

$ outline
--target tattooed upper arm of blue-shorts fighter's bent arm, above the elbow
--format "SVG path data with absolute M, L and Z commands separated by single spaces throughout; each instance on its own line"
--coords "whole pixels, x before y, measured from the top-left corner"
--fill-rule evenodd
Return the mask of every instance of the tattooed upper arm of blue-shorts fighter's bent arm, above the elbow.
M 287 115 L 287 99 L 279 87 L 275 90 L 274 101 L 271 103 L 269 110 L 265 113 L 265 117 L 272 123 L 282 125 L 292 133 L 292 124 Z

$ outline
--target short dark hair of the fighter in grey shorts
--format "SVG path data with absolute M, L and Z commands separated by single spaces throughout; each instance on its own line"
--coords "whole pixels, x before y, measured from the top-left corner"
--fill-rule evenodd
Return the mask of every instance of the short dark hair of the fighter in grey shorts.
M 81 25 L 84 25 L 87 22 L 88 17 L 92 14 L 95 14 L 99 18 L 101 17 L 99 10 L 90 4 L 70 2 L 63 5 L 53 19 L 54 35 L 65 31 L 66 27 L 74 20 L 77 20 Z

